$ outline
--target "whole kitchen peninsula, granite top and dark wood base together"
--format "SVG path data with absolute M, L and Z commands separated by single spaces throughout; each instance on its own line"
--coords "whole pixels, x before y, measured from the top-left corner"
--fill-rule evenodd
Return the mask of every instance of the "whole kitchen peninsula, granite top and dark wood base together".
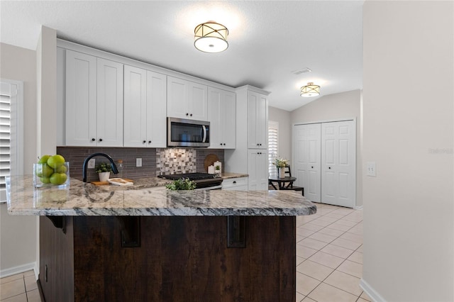
M 294 301 L 294 191 L 168 191 L 135 186 L 34 189 L 8 181 L 11 215 L 40 216 L 45 301 Z

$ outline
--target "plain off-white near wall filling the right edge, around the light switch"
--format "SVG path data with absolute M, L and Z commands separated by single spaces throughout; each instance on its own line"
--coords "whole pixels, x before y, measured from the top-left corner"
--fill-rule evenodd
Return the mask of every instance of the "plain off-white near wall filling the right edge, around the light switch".
M 365 1 L 362 286 L 454 301 L 453 1 Z

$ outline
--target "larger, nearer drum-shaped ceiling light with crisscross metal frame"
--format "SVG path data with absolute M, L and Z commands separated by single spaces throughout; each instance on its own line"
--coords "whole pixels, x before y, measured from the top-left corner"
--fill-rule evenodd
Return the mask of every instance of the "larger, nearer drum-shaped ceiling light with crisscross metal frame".
M 208 21 L 194 29 L 194 46 L 203 52 L 222 52 L 228 47 L 227 37 L 226 26 Z

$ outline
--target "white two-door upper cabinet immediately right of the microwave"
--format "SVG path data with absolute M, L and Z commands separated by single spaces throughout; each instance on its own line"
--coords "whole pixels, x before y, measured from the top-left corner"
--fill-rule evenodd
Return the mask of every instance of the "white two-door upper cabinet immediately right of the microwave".
M 208 120 L 210 148 L 235 149 L 236 94 L 208 87 Z

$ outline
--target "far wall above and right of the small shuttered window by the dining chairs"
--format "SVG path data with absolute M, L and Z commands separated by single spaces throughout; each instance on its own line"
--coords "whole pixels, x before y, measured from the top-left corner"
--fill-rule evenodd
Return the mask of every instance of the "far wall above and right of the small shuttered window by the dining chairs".
M 290 123 L 290 112 L 279 108 L 268 106 L 268 121 L 279 123 L 277 136 L 279 157 L 292 159 L 292 124 Z M 292 164 L 292 162 L 290 162 Z

